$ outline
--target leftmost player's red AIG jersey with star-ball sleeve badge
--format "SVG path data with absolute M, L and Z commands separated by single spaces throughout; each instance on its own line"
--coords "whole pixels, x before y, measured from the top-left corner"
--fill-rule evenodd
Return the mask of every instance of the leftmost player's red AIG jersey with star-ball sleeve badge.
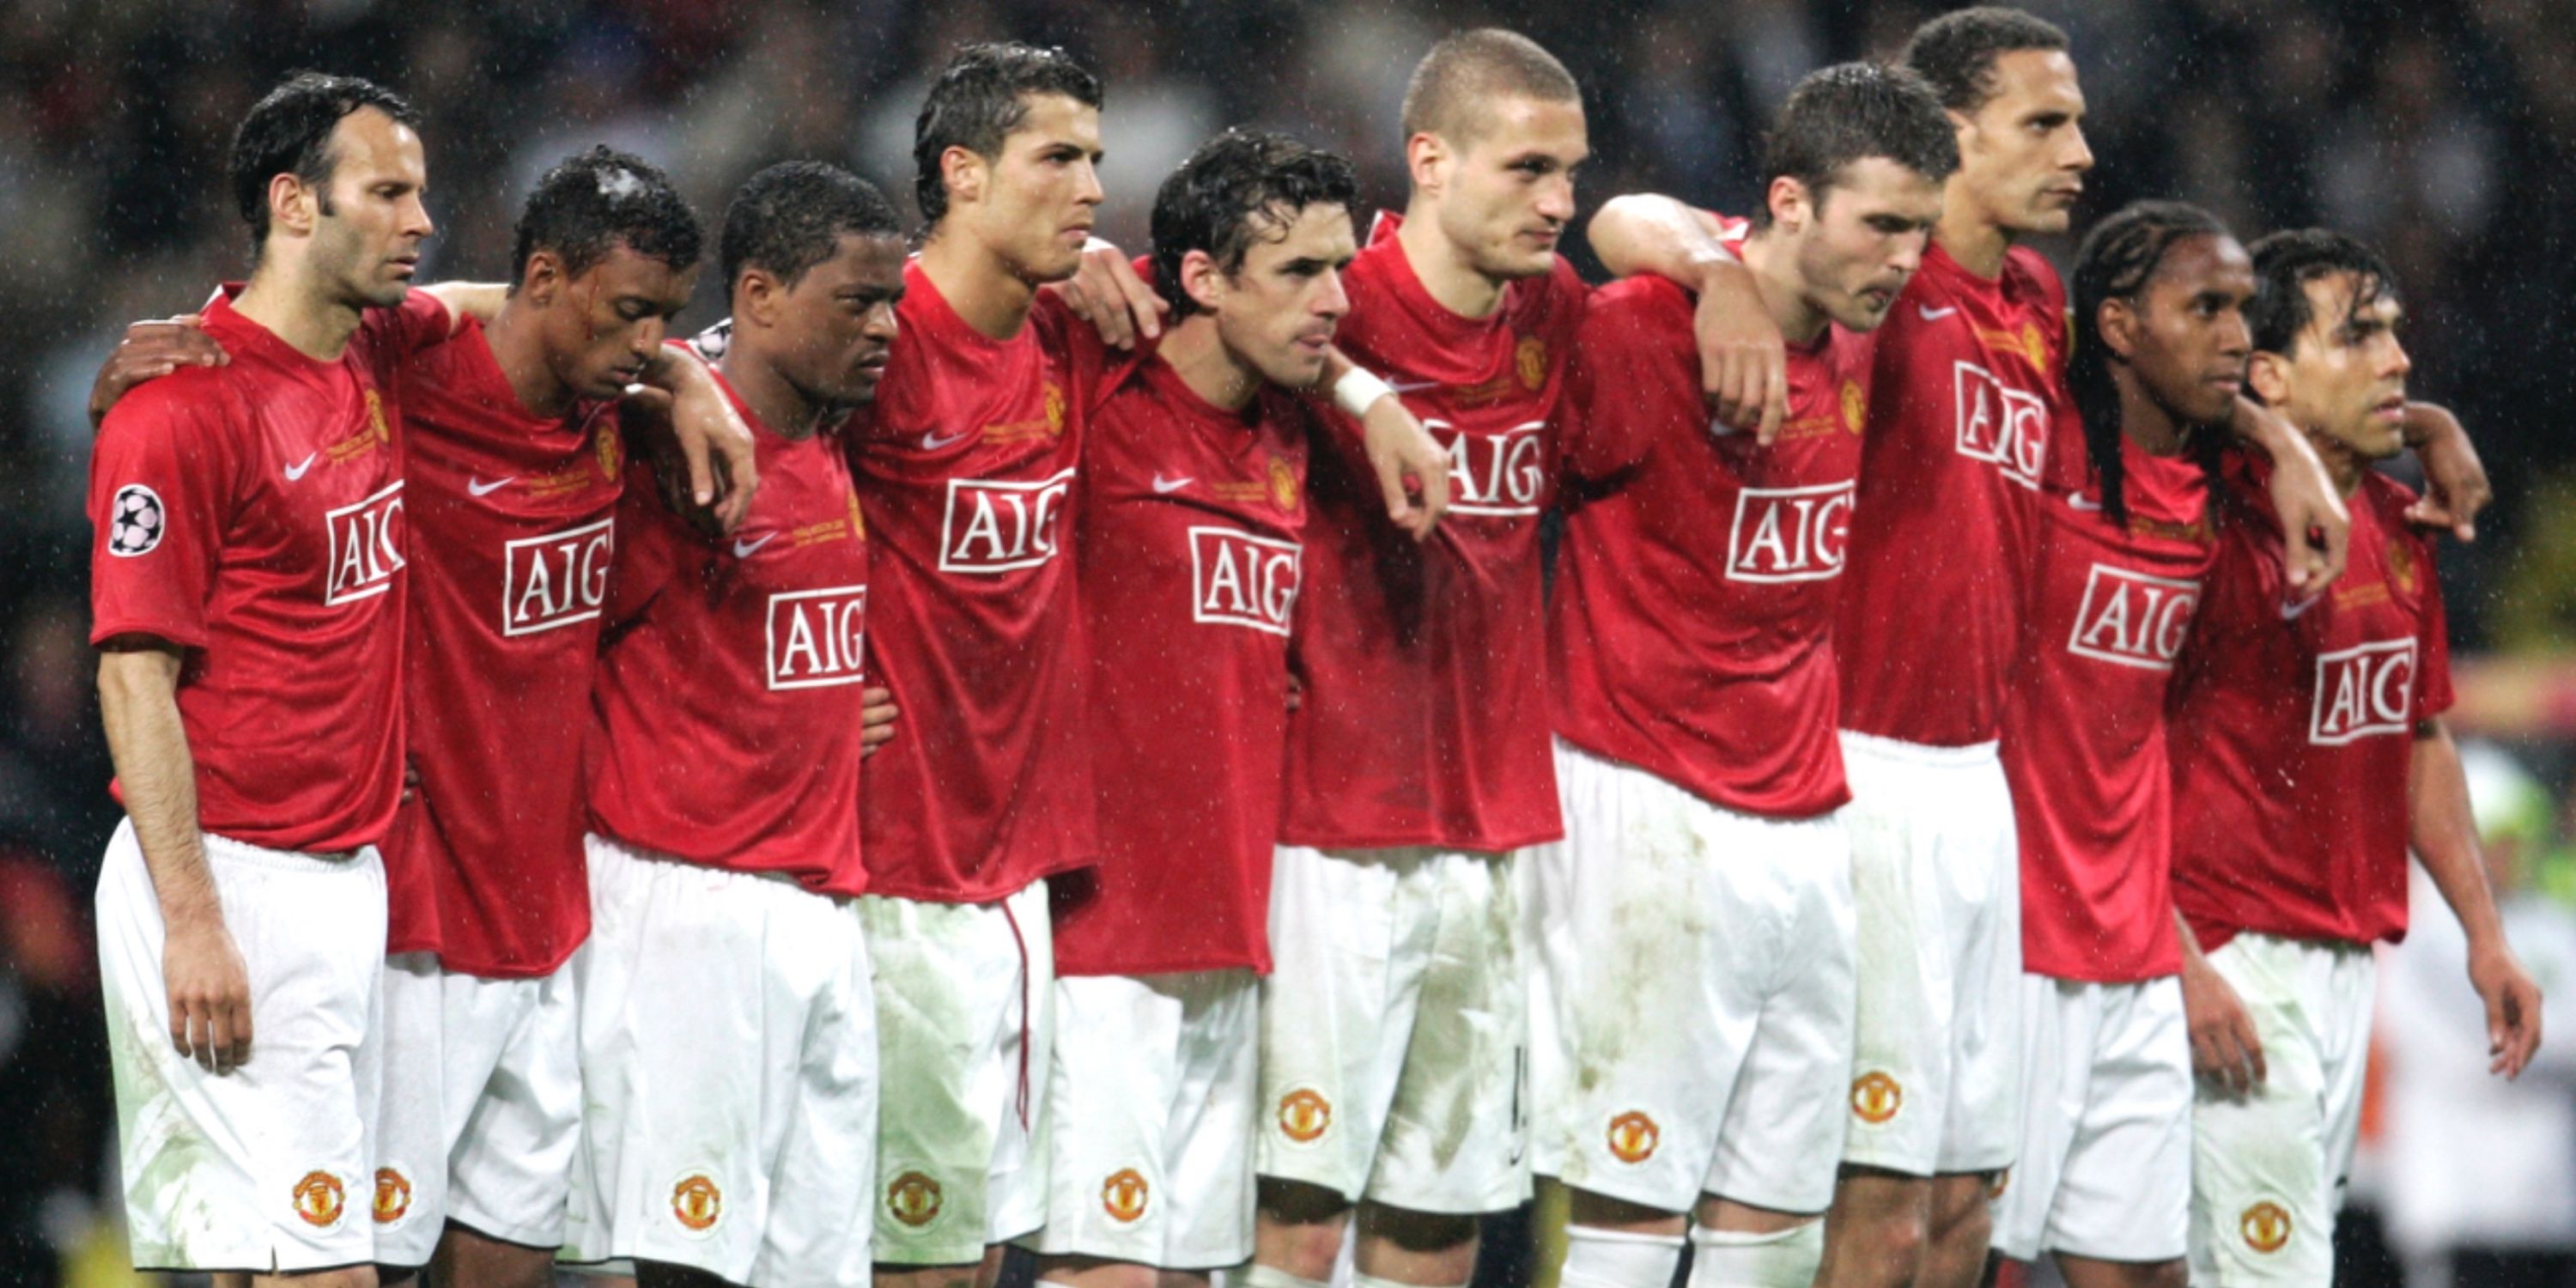
M 227 291 L 232 291 L 227 286 Z M 402 799 L 397 363 L 448 335 L 425 291 L 307 358 L 216 296 L 229 366 L 134 386 L 90 456 L 90 641 L 185 647 L 206 832 L 353 850 Z

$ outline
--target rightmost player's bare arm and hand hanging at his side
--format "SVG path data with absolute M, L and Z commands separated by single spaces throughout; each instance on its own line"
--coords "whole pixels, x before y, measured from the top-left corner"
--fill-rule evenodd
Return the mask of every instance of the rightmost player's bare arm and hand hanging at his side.
M 2488 1069 L 2517 1077 L 2540 1046 L 2540 987 L 2504 940 L 2504 917 L 2496 914 L 2496 894 L 2478 855 L 2460 747 L 2439 719 L 2416 724 L 2414 760 L 2406 765 L 2406 832 L 2424 876 L 2468 935 L 2468 981 L 2486 1002 Z

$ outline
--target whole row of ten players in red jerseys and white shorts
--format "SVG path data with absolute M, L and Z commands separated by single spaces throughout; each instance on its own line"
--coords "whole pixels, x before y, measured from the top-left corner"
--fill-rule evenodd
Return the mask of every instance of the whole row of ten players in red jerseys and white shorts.
M 1906 64 L 1793 93 L 1752 222 L 1615 201 L 1641 276 L 1592 291 L 1579 93 L 1520 36 L 1422 62 L 1365 247 L 1347 162 L 1226 134 L 1144 276 L 1084 255 L 1100 85 L 971 46 L 920 255 L 765 170 L 706 358 L 647 162 L 554 170 L 507 289 L 415 291 L 410 108 L 283 85 L 252 281 L 103 374 L 183 366 L 93 466 L 137 1265 L 927 1288 L 1018 1239 L 1303 1288 L 1355 1226 L 1443 1288 L 1535 1167 L 1566 1283 L 1662 1285 L 1685 1229 L 1708 1285 L 1965 1283 L 2020 1159 L 2007 1255 L 2177 1275 L 2197 1195 L 2202 1278 L 2316 1278 L 2360 1048 L 2282 1015 L 2367 997 L 2409 783 L 2537 1041 L 2427 840 L 2439 598 L 2362 469 L 2393 283 L 2300 234 L 2257 289 L 2146 206 L 2071 343 L 2012 250 L 2092 165 L 2063 36 L 1965 10 Z M 2197 1136 L 2169 855 L 2205 1064 L 2272 1059 Z

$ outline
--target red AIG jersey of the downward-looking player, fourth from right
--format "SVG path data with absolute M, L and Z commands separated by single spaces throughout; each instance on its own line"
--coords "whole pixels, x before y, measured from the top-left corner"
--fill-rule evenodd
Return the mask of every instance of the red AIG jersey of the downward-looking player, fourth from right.
M 1564 417 L 1556 732 L 1726 809 L 1803 819 L 1852 799 L 1834 737 L 1834 592 L 1870 337 L 1788 350 L 1772 446 L 1710 433 L 1692 299 L 1592 296 Z

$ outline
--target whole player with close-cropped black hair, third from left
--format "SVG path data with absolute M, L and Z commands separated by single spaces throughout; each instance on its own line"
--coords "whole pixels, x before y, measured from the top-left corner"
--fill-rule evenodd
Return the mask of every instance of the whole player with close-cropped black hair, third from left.
M 904 240 L 866 180 L 752 175 L 716 363 L 762 487 L 732 536 L 629 466 L 592 693 L 582 1092 L 567 1260 L 639 1280 L 853 1283 L 876 1020 L 853 896 L 868 528 L 829 433 L 894 345 Z

